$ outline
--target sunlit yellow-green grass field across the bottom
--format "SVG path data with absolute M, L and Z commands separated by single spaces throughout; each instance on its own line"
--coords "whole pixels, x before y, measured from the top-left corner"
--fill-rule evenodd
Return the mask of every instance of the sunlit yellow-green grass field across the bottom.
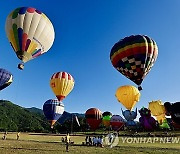
M 0 134 L 3 136 L 3 134 Z M 8 133 L 7 140 L 0 140 L 0 153 L 2 154 L 59 154 L 66 153 L 65 145 L 61 142 L 62 135 L 55 134 L 35 134 L 35 133 L 21 133 L 20 140 L 16 140 L 16 133 Z M 180 136 L 178 136 L 180 137 Z M 149 138 L 147 138 L 149 139 Z M 151 137 L 150 139 L 153 139 Z M 158 138 L 157 138 L 158 139 Z M 110 148 L 105 145 L 104 148 L 94 146 L 82 146 L 82 142 L 85 140 L 85 136 L 71 136 L 71 140 L 74 141 L 74 145 L 70 146 L 68 153 L 75 154 L 94 154 L 94 153 L 122 153 L 122 154 L 179 154 L 180 153 L 180 141 L 178 143 L 130 143 L 132 138 L 129 138 L 128 142 L 124 142 L 122 137 L 119 137 L 119 143 L 117 146 Z M 147 140 L 148 141 L 148 140 Z

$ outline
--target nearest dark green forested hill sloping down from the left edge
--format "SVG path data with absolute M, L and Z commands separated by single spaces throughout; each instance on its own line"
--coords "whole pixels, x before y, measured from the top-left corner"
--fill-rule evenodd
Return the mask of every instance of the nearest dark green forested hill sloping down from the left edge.
M 43 132 L 49 130 L 49 124 L 43 115 L 0 100 L 0 130 Z

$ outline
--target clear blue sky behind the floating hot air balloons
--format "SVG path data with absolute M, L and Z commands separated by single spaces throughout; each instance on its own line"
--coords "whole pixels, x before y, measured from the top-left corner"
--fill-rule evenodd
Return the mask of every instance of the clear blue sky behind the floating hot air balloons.
M 17 7 L 41 10 L 52 21 L 55 41 L 41 57 L 20 71 L 5 34 L 5 20 Z M 115 98 L 122 85 L 134 85 L 116 71 L 109 58 L 119 39 L 132 34 L 153 38 L 159 48 L 157 61 L 145 78 L 140 101 L 179 101 L 180 1 L 174 0 L 6 0 L 0 2 L 0 67 L 12 72 L 14 82 L 0 92 L 0 99 L 23 107 L 42 108 L 55 95 L 49 86 L 53 73 L 67 71 L 75 79 L 73 91 L 64 99 L 66 111 L 85 112 L 90 107 L 121 114 Z

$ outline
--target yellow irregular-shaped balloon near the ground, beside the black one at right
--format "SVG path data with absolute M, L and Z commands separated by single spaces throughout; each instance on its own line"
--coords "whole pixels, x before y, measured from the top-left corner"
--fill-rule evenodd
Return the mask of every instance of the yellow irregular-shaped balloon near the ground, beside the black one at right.
M 149 109 L 151 110 L 151 114 L 156 117 L 159 124 L 166 119 L 165 117 L 165 107 L 160 100 L 149 102 Z

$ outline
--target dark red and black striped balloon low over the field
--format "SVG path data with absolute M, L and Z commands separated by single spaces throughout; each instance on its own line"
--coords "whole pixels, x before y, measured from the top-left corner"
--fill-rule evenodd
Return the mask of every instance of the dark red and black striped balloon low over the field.
M 85 118 L 91 130 L 95 131 L 102 121 L 102 112 L 97 108 L 90 108 L 86 111 Z

